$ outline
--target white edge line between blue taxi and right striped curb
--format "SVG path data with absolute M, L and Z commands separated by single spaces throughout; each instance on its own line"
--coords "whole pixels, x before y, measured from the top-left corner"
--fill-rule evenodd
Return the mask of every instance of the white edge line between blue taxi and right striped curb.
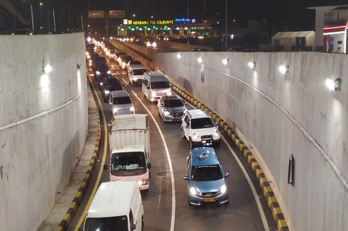
M 191 103 L 189 103 L 187 101 L 185 101 L 185 102 L 188 105 L 190 105 L 192 108 L 196 108 Z M 259 212 L 260 212 L 261 220 L 262 220 L 262 223 L 263 223 L 263 227 L 264 227 L 265 231 L 269 231 L 269 226 L 268 226 L 268 222 L 267 222 L 267 219 L 266 219 L 266 215 L 265 215 L 265 212 L 263 211 L 260 198 L 257 195 L 257 192 L 256 192 L 256 189 L 255 189 L 255 186 L 254 186 L 253 182 L 251 181 L 251 179 L 250 179 L 248 173 L 246 172 L 246 169 L 244 168 L 243 164 L 241 164 L 241 161 L 239 160 L 239 157 L 236 155 L 236 152 L 234 152 L 234 150 L 232 150 L 231 145 L 229 145 L 229 143 L 227 142 L 227 140 L 224 137 L 224 135 L 221 134 L 221 137 L 222 137 L 222 140 L 224 141 L 224 143 L 226 144 L 226 146 L 229 148 L 229 151 L 232 153 L 234 159 L 236 159 L 236 162 L 238 163 L 239 167 L 241 168 L 241 171 L 243 171 L 243 174 L 244 174 L 244 176 L 246 178 L 246 181 L 248 181 L 248 184 L 249 184 L 249 186 L 251 188 L 251 191 L 253 192 L 257 208 L 259 208 Z

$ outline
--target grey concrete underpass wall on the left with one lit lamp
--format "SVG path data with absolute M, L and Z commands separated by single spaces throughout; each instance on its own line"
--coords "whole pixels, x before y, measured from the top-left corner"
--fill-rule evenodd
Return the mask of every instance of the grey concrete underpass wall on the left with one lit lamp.
M 0 53 L 0 229 L 37 230 L 85 146 L 85 38 L 1 35 Z

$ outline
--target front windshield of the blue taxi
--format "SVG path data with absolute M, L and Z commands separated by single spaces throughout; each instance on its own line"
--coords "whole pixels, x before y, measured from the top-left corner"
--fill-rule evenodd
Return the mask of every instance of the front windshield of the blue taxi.
M 192 167 L 191 181 L 217 181 L 219 179 L 222 179 L 219 164 Z

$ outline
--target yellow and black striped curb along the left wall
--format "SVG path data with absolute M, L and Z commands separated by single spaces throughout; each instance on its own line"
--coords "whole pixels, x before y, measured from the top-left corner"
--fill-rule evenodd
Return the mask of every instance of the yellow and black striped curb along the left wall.
M 89 79 L 89 83 L 92 84 L 91 79 Z M 99 118 L 99 116 L 98 116 Z M 70 203 L 70 207 L 67 210 L 67 213 L 65 213 L 64 217 L 60 221 L 60 224 L 57 227 L 58 231 L 62 230 L 67 230 L 67 227 L 69 227 L 72 218 L 74 218 L 74 215 L 79 208 L 80 203 L 82 202 L 83 196 L 85 196 L 85 192 L 87 190 L 89 181 L 92 178 L 92 172 L 95 167 L 95 164 L 97 162 L 97 158 L 99 155 L 99 148 L 100 148 L 100 143 L 101 143 L 101 130 L 100 130 L 100 122 L 99 119 L 97 120 L 97 140 L 94 145 L 93 153 L 92 153 L 92 158 L 89 162 L 88 169 L 86 171 L 86 174 L 80 184 L 79 189 L 77 190 L 77 193 L 75 194 L 75 197 L 72 199 L 72 203 Z

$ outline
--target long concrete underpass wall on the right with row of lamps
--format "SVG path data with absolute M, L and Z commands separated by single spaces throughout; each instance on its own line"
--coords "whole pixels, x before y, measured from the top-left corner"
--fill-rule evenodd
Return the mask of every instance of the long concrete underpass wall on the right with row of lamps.
M 177 55 L 157 53 L 153 64 L 236 128 L 271 182 L 290 230 L 347 230 L 348 56 Z M 249 62 L 256 62 L 256 68 Z M 287 74 L 279 72 L 281 65 L 289 66 Z M 342 78 L 342 91 L 327 89 L 327 77 Z M 294 185 L 288 184 L 290 154 L 295 159 Z

